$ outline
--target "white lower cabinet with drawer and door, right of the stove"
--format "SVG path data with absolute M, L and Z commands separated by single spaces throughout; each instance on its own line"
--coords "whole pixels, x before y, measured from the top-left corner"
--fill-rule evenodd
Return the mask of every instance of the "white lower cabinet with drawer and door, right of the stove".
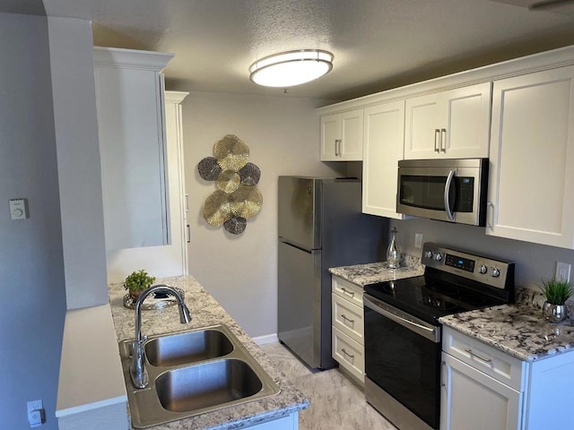
M 574 428 L 574 352 L 526 363 L 444 327 L 440 379 L 440 430 Z

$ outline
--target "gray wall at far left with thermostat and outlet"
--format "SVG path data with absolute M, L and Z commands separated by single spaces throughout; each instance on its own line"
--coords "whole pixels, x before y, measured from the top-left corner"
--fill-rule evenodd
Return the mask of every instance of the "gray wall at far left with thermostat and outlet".
M 65 278 L 46 18 L 0 13 L 0 427 L 29 428 L 44 400 L 57 429 Z M 27 198 L 12 221 L 8 200 Z

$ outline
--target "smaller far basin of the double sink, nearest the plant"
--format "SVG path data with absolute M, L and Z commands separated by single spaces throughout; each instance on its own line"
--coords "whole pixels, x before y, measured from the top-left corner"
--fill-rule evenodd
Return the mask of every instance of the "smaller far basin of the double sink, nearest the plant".
M 233 344 L 222 331 L 205 329 L 161 336 L 145 344 L 152 366 L 170 367 L 227 356 Z

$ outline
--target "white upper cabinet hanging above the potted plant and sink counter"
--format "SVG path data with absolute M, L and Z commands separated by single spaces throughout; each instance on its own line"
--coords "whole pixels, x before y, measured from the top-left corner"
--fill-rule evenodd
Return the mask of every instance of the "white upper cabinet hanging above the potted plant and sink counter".
M 170 241 L 161 70 L 172 56 L 94 48 L 109 250 Z

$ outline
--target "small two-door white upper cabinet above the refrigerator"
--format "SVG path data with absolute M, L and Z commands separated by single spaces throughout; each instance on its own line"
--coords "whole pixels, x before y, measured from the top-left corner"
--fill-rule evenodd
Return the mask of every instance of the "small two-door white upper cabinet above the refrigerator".
M 362 109 L 321 116 L 321 161 L 362 159 Z

